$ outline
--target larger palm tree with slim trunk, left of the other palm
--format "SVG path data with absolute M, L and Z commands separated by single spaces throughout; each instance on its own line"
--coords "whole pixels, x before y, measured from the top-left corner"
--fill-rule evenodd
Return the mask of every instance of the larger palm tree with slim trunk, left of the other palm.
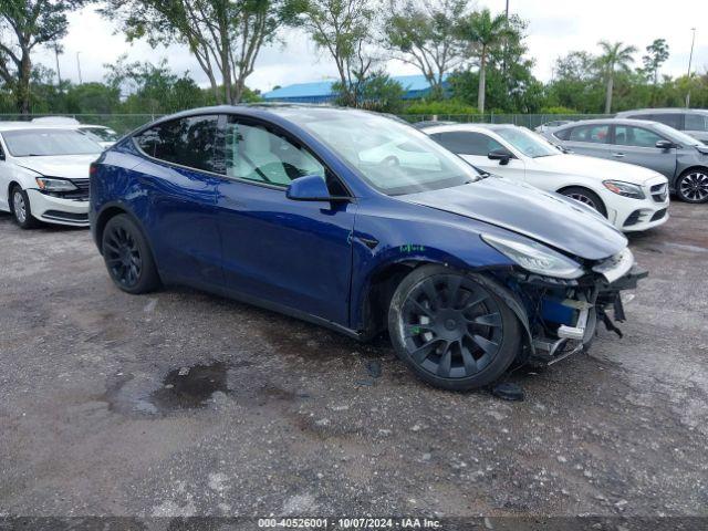
M 477 108 L 485 112 L 485 92 L 487 90 L 487 54 L 490 46 L 501 44 L 509 34 L 509 25 L 503 13 L 491 15 L 485 8 L 472 13 L 461 25 L 461 37 L 477 48 L 479 55 L 479 88 Z

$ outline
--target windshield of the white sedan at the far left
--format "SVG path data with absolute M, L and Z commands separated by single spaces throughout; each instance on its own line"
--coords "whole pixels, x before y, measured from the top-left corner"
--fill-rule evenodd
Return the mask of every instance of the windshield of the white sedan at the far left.
M 91 138 L 70 129 L 23 129 L 2 134 L 13 157 L 93 155 L 103 148 Z

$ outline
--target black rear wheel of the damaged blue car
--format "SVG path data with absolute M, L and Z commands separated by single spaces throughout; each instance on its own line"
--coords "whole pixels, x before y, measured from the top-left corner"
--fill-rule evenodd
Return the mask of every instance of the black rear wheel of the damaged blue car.
M 159 275 L 147 240 L 125 214 L 108 220 L 101 249 L 111 279 L 123 291 L 137 294 L 159 287 Z

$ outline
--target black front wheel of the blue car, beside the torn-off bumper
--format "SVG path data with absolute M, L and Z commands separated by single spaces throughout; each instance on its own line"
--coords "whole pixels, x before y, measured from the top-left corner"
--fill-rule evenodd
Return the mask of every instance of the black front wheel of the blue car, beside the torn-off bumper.
M 517 357 L 520 325 L 493 281 L 441 266 L 409 273 L 394 293 L 388 332 L 425 382 L 468 391 L 497 381 Z

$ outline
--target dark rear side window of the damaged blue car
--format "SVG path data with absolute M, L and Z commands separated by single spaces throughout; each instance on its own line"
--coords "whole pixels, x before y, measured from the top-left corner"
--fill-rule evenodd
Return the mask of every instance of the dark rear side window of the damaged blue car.
M 135 137 L 150 157 L 195 169 L 217 171 L 218 116 L 189 116 L 150 127 Z

